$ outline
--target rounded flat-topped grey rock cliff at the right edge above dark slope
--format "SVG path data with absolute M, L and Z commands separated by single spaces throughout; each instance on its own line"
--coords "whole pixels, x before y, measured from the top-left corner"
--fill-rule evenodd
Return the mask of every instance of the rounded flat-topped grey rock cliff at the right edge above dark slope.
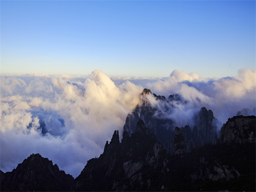
M 255 116 L 234 116 L 223 124 L 220 143 L 255 143 Z

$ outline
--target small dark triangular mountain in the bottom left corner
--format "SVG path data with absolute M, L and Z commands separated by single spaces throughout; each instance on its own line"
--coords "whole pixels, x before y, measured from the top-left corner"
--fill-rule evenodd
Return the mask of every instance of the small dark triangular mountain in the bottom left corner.
M 39 154 L 30 155 L 11 172 L 1 171 L 1 191 L 66 191 L 73 181 L 73 176 Z

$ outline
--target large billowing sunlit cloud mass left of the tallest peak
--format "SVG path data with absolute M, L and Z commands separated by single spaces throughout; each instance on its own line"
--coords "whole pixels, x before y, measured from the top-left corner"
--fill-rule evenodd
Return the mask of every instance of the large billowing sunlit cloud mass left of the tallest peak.
M 89 78 L 1 76 L 1 84 L 1 170 L 40 153 L 75 177 L 114 130 L 122 133 L 143 90 L 99 70 Z

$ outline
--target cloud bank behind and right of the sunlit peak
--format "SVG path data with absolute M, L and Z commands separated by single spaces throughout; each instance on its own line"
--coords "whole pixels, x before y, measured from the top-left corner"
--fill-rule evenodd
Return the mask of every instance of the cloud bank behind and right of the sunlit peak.
M 240 69 L 237 76 L 221 79 L 203 79 L 194 73 L 174 70 L 169 77 L 148 83 L 147 87 L 165 97 L 180 94 L 192 103 L 185 108 L 184 113 L 205 106 L 213 111 L 220 122 L 225 123 L 226 119 L 235 116 L 242 108 L 253 110 L 256 105 L 255 78 L 256 70 L 250 69 Z

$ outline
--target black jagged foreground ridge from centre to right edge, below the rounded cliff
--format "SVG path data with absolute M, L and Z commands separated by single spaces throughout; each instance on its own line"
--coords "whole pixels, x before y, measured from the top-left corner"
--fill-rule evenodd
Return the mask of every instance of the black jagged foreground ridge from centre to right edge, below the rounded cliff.
M 122 142 L 115 131 L 99 158 L 87 162 L 73 191 L 255 191 L 255 143 L 205 144 L 185 152 L 175 128 L 174 155 L 140 119 Z

